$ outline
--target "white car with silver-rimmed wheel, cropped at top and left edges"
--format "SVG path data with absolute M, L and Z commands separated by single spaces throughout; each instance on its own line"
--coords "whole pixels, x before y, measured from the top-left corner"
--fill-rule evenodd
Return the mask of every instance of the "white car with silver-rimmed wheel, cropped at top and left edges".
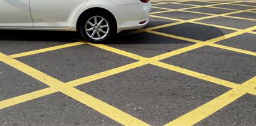
M 79 31 L 102 42 L 148 23 L 149 0 L 0 0 L 0 29 Z

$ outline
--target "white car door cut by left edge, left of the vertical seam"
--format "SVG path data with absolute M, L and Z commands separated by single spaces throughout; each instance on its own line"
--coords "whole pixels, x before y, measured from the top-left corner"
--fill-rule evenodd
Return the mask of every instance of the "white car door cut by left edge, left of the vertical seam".
M 33 27 L 29 0 L 0 0 L 0 28 Z

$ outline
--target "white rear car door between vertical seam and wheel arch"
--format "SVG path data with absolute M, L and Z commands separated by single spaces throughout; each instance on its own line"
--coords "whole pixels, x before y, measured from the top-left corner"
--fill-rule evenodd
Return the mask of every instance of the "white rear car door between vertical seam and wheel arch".
M 69 28 L 87 0 L 30 0 L 35 28 Z

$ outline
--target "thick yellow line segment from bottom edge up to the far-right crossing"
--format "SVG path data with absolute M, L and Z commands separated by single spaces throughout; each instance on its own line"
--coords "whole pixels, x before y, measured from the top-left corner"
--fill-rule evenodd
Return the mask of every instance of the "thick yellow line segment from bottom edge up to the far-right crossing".
M 203 106 L 194 109 L 193 111 L 181 116 L 180 118 L 177 118 L 176 120 L 173 120 L 173 122 L 167 123 L 164 126 L 194 125 L 195 123 L 204 120 L 204 118 L 234 102 L 245 94 L 246 93 L 243 91 L 230 90 L 227 93 L 220 95 L 220 97 L 211 100 L 211 102 L 207 102 Z

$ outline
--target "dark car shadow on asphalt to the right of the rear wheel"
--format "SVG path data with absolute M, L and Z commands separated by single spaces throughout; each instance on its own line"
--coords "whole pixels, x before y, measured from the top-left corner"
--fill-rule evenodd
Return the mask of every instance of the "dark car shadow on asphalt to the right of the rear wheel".
M 159 22 L 150 22 L 149 25 L 154 23 L 159 24 Z M 220 29 L 216 27 L 210 26 L 202 26 L 198 24 L 191 24 L 185 23 L 182 25 L 171 26 L 161 29 L 156 29 L 154 31 L 168 34 L 168 35 L 175 35 L 181 36 L 185 38 L 191 38 L 193 40 L 200 40 L 202 42 L 211 40 L 213 38 L 217 38 L 222 36 L 225 38 L 225 35 L 232 33 L 234 31 L 228 29 Z M 123 31 L 118 34 L 113 40 L 109 42 L 109 44 L 175 44 L 175 43 L 191 43 L 185 41 L 184 39 L 180 38 L 180 40 L 163 36 L 163 35 L 156 35 L 153 33 L 136 33 L 134 35 L 127 35 L 133 31 Z

